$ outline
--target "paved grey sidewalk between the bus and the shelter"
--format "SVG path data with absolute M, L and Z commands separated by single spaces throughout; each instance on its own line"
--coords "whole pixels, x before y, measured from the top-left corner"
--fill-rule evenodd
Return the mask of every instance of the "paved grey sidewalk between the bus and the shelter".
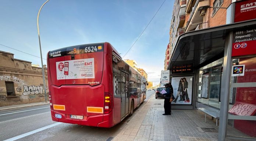
M 113 141 L 217 141 L 218 127 L 210 118 L 204 120 L 197 110 L 172 110 L 164 113 L 164 99 L 152 95 L 137 110 Z M 212 128 L 206 132 L 202 128 Z

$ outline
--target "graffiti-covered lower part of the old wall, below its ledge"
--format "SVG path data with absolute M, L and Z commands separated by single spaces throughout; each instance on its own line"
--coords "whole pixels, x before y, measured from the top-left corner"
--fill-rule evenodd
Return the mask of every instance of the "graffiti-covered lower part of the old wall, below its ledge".
M 33 79 L 32 79 L 33 78 Z M 0 106 L 8 105 L 8 101 L 17 101 L 19 104 L 45 101 L 44 85 L 38 80 L 40 77 L 14 76 L 0 74 Z M 42 80 L 42 77 L 41 77 Z M 6 82 L 13 82 L 13 94 L 8 95 Z M 47 89 L 46 89 L 47 90 Z M 13 102 L 12 104 L 13 105 Z

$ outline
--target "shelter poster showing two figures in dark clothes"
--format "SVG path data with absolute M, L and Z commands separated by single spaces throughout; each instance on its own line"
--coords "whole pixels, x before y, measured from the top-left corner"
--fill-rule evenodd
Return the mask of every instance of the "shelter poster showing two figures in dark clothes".
M 184 78 L 186 82 L 184 82 Z M 183 84 L 182 82 L 180 83 L 181 79 L 183 81 Z M 171 85 L 173 86 L 173 95 L 175 97 L 175 100 L 173 100 L 171 104 L 186 104 L 186 105 L 192 104 L 192 83 L 193 83 L 193 76 L 172 77 Z M 186 90 L 184 91 L 184 89 Z

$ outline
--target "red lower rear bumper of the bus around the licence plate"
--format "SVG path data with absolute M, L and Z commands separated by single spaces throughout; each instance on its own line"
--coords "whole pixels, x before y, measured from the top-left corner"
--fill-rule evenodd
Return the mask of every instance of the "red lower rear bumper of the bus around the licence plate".
M 55 114 L 60 114 L 61 118 L 56 118 Z M 113 118 L 111 117 L 112 117 L 111 114 L 104 114 L 104 115 L 87 116 L 86 118 L 84 117 L 83 120 L 79 120 L 79 119 L 71 119 L 66 114 L 51 110 L 51 119 L 53 121 L 85 125 L 85 126 L 112 127 L 114 126 L 114 124 L 112 122 Z

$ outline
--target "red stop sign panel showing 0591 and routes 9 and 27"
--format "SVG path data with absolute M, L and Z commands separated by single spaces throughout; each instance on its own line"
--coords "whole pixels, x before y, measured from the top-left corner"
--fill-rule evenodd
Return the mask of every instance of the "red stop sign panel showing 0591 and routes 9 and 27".
M 256 27 L 243 28 L 234 31 L 232 56 L 256 54 Z

